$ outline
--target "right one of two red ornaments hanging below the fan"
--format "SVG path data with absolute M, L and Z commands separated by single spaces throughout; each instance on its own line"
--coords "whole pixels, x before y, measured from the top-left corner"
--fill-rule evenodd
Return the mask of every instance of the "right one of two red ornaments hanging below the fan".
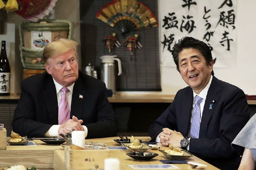
M 127 50 L 131 52 L 131 61 L 132 61 L 132 55 L 133 55 L 133 51 L 135 51 L 136 49 L 140 49 L 142 47 L 142 45 L 140 44 L 140 42 L 137 40 L 138 38 L 138 34 L 135 34 L 133 37 L 127 37 L 124 40 L 124 46 L 126 46 Z

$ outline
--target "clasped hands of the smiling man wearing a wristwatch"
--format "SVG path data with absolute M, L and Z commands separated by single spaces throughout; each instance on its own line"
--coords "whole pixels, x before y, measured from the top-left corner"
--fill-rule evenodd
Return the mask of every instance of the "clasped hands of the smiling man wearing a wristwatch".
M 175 147 L 181 147 L 180 140 L 184 138 L 180 132 L 169 128 L 163 128 L 163 132 L 161 132 L 158 137 L 163 146 L 169 146 L 169 144 L 171 144 Z

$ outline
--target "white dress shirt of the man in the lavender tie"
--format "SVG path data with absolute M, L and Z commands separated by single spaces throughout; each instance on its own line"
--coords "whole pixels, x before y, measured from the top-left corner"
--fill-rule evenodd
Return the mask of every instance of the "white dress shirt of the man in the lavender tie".
M 199 94 L 196 94 L 195 91 L 193 90 L 193 96 L 194 96 L 193 97 L 193 109 L 194 109 L 194 106 L 195 106 L 195 97 L 196 97 L 196 95 L 203 98 L 202 102 L 200 103 L 200 111 L 201 111 L 200 123 L 201 123 L 202 114 L 203 114 L 203 110 L 204 110 L 205 99 L 206 99 L 206 96 L 207 96 L 207 93 L 208 93 L 208 90 L 209 90 L 209 87 L 210 87 L 211 83 L 212 83 L 212 75 L 211 75 L 210 81 L 207 83 L 205 88 Z M 191 127 L 193 109 L 191 111 L 190 127 Z M 189 127 L 189 130 L 188 130 L 188 136 L 190 135 L 190 127 Z M 190 138 L 188 138 L 188 141 L 190 141 Z M 160 138 L 158 136 L 156 137 L 156 142 L 160 142 Z M 187 150 L 189 151 L 189 144 L 188 144 Z

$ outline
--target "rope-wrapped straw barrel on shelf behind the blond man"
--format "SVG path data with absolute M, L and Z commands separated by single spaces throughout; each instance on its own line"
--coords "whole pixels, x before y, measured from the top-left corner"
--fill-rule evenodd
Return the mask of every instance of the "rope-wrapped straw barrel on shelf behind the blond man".
M 42 23 L 45 22 L 46 23 Z M 72 24 L 65 20 L 38 20 L 32 22 L 25 20 L 20 24 L 20 57 L 24 68 L 44 69 L 43 50 L 31 49 L 31 31 L 50 31 L 52 32 L 53 42 L 58 38 L 71 39 Z

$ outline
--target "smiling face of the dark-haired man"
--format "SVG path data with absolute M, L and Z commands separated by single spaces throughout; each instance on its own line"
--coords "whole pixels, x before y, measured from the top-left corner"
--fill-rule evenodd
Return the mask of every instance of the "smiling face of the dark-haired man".
M 183 49 L 179 53 L 179 68 L 182 79 L 199 94 L 211 78 L 213 60 L 207 66 L 204 56 L 197 49 Z

